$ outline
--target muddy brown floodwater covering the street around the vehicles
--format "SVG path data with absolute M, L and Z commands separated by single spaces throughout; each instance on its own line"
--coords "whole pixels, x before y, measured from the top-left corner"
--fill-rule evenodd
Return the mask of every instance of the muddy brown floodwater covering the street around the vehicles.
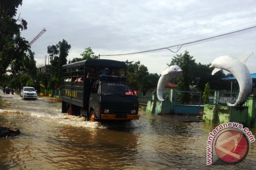
M 187 115 L 151 115 L 128 123 L 86 122 L 61 113 L 49 97 L 23 100 L 0 92 L 0 126 L 20 129 L 0 138 L 0 169 L 255 169 L 256 143 L 236 165 L 206 165 L 216 125 Z M 256 135 L 256 129 L 250 129 Z

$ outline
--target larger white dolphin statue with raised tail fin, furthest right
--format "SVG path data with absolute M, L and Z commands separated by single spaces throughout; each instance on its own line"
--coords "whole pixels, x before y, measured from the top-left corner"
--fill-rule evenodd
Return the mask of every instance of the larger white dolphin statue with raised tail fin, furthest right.
M 237 100 L 233 104 L 226 101 L 228 106 L 242 106 L 246 102 L 247 96 L 252 91 L 251 74 L 245 65 L 246 60 L 252 54 L 252 52 L 245 53 L 239 59 L 228 55 L 220 56 L 213 60 L 212 65 L 210 66 L 215 68 L 212 71 L 212 75 L 223 69 L 233 74 L 239 84 L 239 95 Z

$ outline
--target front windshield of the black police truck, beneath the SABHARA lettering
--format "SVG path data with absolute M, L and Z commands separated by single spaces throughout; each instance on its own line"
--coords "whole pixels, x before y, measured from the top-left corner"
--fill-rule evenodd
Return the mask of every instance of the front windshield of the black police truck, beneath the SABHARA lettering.
M 132 87 L 124 83 L 101 83 L 102 95 L 135 96 Z

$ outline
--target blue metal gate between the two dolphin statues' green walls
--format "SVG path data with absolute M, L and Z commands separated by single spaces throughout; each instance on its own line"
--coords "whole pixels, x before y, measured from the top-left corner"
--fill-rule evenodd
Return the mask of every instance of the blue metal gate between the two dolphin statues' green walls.
M 199 114 L 201 92 L 176 91 L 173 112 L 179 114 Z

